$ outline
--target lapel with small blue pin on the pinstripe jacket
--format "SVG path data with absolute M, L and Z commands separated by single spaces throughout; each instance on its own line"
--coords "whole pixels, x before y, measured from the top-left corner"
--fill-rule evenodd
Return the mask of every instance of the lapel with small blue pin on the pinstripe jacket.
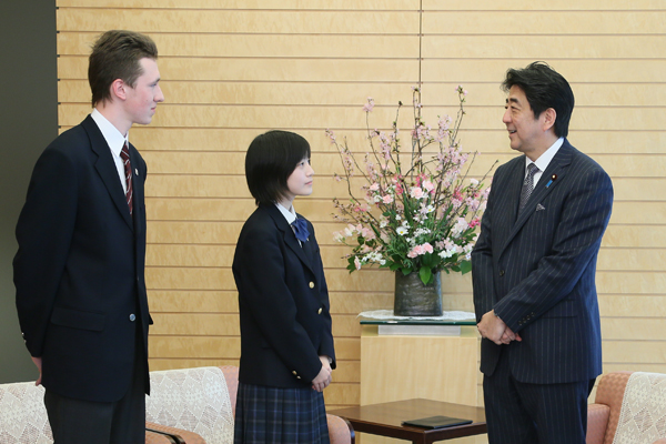
M 502 252 L 504 252 L 504 249 L 514 239 L 514 236 L 521 231 L 521 229 L 523 228 L 525 222 L 527 222 L 529 220 L 529 218 L 532 218 L 532 215 L 536 211 L 536 206 L 538 204 L 541 204 L 541 202 L 543 202 L 543 200 L 555 189 L 555 186 L 557 186 L 559 183 L 562 183 L 562 180 L 566 175 L 567 167 L 572 162 L 572 154 L 573 154 L 572 150 L 573 150 L 573 147 L 565 139 L 564 143 L 557 151 L 557 154 L 555 154 L 555 157 L 553 158 L 553 160 L 546 168 L 546 171 L 544 171 L 539 181 L 536 183 L 536 186 L 534 188 L 532 195 L 529 195 L 527 203 L 525 203 L 525 208 L 523 209 L 521 214 L 517 216 L 516 222 L 514 223 L 511 231 L 508 232 L 508 235 L 505 238 L 505 242 L 500 251 L 500 254 L 502 254 Z M 524 163 L 523 163 L 523 165 L 524 165 Z M 553 179 L 553 178 L 555 178 L 555 179 Z M 521 181 L 521 188 L 522 188 L 522 181 Z M 514 195 L 517 196 L 517 200 L 519 200 L 519 194 L 521 194 L 519 191 L 517 193 L 514 193 Z

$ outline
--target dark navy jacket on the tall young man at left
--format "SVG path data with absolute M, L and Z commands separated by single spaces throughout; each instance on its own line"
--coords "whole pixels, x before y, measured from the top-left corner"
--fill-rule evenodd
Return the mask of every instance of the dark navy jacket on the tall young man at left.
M 130 145 L 133 216 L 107 141 L 89 115 L 38 160 L 17 225 L 17 309 L 42 383 L 62 396 L 121 398 L 147 361 L 145 162 Z M 144 380 L 148 386 L 148 365 Z

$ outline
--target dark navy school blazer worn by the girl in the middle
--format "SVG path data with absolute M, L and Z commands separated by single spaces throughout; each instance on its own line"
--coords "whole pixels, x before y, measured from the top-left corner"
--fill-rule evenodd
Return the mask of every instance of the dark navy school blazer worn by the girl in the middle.
M 239 380 L 307 387 L 333 360 L 329 290 L 314 229 L 299 244 L 280 210 L 260 204 L 241 231 L 233 259 L 241 319 Z

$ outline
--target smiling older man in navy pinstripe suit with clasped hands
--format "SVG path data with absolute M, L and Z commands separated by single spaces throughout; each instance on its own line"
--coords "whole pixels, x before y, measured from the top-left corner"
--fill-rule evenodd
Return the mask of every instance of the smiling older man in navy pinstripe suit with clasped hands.
M 492 444 L 584 444 L 602 373 L 596 261 L 613 184 L 566 140 L 568 82 L 543 62 L 507 71 L 500 167 L 472 253 Z

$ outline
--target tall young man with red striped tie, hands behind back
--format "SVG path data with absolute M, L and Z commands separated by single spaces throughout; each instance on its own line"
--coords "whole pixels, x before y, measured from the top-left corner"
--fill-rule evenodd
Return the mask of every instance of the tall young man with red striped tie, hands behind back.
M 149 392 L 145 162 L 129 143 L 164 100 L 158 49 L 108 31 L 93 111 L 41 154 L 17 224 L 17 309 L 57 444 L 142 443 Z

